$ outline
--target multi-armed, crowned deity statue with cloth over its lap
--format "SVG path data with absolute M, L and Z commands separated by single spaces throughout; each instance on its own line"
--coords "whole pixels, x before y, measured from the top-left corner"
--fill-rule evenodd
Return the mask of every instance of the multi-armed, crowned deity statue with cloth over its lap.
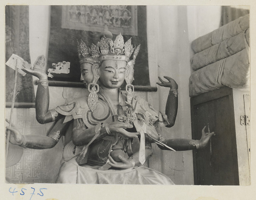
M 172 127 L 177 115 L 177 83 L 167 76 L 167 81 L 159 78 L 161 83 L 157 84 L 169 87 L 170 92 L 166 114 L 157 113 L 133 94 L 131 83 L 140 46 L 133 48 L 131 39 L 124 43 L 121 34 L 115 41 L 110 32 L 105 35 L 91 48 L 82 41 L 78 46 L 88 96 L 49 110 L 47 75 L 24 69 L 39 78 L 38 122 L 57 122 L 48 136 L 22 136 L 15 128 L 7 127 L 12 131 L 10 142 L 26 148 L 51 148 L 68 133 L 56 183 L 173 184 L 165 175 L 143 166 L 152 154 L 151 143 L 173 151 L 204 148 L 214 132 L 206 134 L 204 128 L 200 140 L 164 139 L 160 126 Z M 133 59 L 129 60 L 131 55 Z M 124 81 L 127 94 L 119 89 Z

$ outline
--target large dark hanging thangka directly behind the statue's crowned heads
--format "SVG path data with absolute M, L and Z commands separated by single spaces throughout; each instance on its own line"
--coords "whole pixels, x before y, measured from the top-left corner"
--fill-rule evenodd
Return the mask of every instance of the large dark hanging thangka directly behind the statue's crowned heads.
M 96 44 L 105 25 L 113 38 L 121 32 L 124 41 L 140 44 L 132 84 L 149 86 L 146 6 L 51 6 L 48 79 L 80 82 L 77 40 Z

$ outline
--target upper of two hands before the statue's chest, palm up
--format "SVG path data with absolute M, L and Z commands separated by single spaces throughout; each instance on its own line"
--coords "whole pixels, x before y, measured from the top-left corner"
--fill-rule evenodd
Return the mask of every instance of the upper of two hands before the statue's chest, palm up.
M 111 133 L 120 133 L 128 138 L 136 138 L 138 137 L 137 135 L 140 134 L 140 133 L 130 133 L 127 130 L 125 130 L 125 128 L 133 128 L 133 125 L 126 124 L 123 122 L 111 122 L 108 125 L 108 128 Z

